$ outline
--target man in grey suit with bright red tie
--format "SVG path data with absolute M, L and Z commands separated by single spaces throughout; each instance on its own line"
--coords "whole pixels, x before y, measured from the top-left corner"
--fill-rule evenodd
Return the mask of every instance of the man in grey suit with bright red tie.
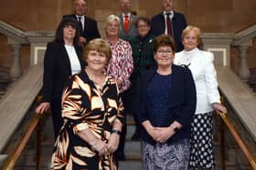
M 124 40 L 129 40 L 131 37 L 138 35 L 134 25 L 137 16 L 131 14 L 131 0 L 120 0 L 121 15 L 121 31 L 120 37 Z

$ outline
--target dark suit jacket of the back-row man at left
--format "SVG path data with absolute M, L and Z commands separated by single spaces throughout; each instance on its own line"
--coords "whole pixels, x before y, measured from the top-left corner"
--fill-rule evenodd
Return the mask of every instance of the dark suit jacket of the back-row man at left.
M 71 17 L 77 21 L 76 15 L 63 15 L 63 18 L 65 17 Z M 100 38 L 101 35 L 98 30 L 97 21 L 87 16 L 84 16 L 84 18 L 84 29 L 80 35 L 85 37 L 87 42 L 91 41 L 94 38 Z

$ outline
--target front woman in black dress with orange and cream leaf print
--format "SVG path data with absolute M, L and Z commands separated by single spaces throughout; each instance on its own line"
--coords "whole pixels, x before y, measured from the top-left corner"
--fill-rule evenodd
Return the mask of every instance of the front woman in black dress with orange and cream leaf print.
M 94 39 L 86 45 L 87 66 L 73 75 L 62 95 L 61 127 L 51 169 L 117 169 L 112 153 L 119 145 L 123 104 L 118 85 L 104 74 L 110 45 Z

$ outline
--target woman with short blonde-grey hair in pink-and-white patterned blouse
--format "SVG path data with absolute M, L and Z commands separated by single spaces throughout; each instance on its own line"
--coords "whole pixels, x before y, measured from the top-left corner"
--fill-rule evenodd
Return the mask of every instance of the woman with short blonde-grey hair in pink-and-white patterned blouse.
M 131 85 L 129 77 L 133 72 L 133 52 L 131 45 L 119 38 L 120 19 L 116 15 L 109 15 L 106 20 L 105 32 L 106 40 L 112 49 L 112 59 L 107 68 L 107 74 L 116 79 L 124 105 L 124 115 L 127 112 L 127 93 L 125 90 Z M 125 116 L 124 116 L 125 117 Z M 120 136 L 120 145 L 116 151 L 117 159 L 124 160 L 124 141 L 126 135 L 126 123 L 124 120 L 123 131 Z

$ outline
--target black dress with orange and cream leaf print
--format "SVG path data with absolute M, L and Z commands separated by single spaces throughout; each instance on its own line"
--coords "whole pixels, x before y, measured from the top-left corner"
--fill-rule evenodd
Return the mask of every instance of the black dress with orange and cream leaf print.
M 62 126 L 52 155 L 51 169 L 117 169 L 114 157 L 98 155 L 78 132 L 91 129 L 108 142 L 112 123 L 123 123 L 123 103 L 116 82 L 106 77 L 98 88 L 83 71 L 72 76 L 62 95 Z

